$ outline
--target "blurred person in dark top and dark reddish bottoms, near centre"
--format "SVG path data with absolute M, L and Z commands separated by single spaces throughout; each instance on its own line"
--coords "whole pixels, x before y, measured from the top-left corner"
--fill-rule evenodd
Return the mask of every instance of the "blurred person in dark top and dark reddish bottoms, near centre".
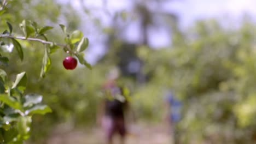
M 128 105 L 127 95 L 125 88 L 117 85 L 117 78 L 119 77 L 117 69 L 110 71 L 107 77 L 107 82 L 103 84 L 104 100 L 103 104 L 100 105 L 97 121 L 101 123 L 107 144 L 113 143 L 115 134 L 119 134 L 120 144 L 124 144 L 126 136 L 125 111 Z

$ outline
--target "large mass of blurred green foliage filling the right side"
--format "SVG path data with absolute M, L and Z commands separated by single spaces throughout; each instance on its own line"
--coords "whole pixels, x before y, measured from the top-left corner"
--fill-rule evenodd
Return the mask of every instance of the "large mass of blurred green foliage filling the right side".
M 176 137 L 181 143 L 254 143 L 254 29 L 248 20 L 238 29 L 199 21 L 189 33 L 179 32 L 183 37 L 178 34 L 179 43 L 169 49 L 138 49 L 144 73 L 152 77 L 137 97 L 171 89 L 183 101 Z

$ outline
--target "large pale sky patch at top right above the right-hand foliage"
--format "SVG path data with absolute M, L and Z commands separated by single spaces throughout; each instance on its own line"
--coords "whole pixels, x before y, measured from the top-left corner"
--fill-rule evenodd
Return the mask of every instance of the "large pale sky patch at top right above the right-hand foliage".
M 176 11 L 181 25 L 189 26 L 196 19 L 217 17 L 241 19 L 245 13 L 256 15 L 255 0 L 181 0 L 165 5 L 165 10 Z

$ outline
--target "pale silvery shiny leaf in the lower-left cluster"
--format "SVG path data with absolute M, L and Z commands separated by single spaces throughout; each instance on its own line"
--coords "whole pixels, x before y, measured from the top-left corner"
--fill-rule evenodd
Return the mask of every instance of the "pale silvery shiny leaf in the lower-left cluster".
M 24 107 L 32 106 L 34 104 L 39 104 L 43 100 L 42 95 L 39 94 L 27 94 L 25 96 L 25 102 L 23 104 Z

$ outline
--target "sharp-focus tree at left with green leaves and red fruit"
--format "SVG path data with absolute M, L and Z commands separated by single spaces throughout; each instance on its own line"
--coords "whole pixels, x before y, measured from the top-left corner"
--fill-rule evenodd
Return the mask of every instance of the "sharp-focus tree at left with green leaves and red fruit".
M 9 5 L 13 1 L 0 1 L 0 17 L 2 21 L 8 15 Z M 60 25 L 65 34 L 65 44 L 49 40 L 46 32 L 53 29 L 51 26 L 39 26 L 36 21 L 23 20 L 19 27 L 22 35 L 14 31 L 13 25 L 6 21 L 8 29 L 1 29 L 0 34 L 0 64 L 8 67 L 8 51 L 14 49 L 22 61 L 26 55 L 22 45 L 38 42 L 44 46 L 42 68 L 39 79 L 45 77 L 51 65 L 51 54 L 57 49 L 62 49 L 69 55 L 63 60 L 66 69 L 75 69 L 77 59 L 80 64 L 91 69 L 91 65 L 85 61 L 83 51 L 88 47 L 88 38 L 79 30 L 67 32 L 64 25 Z M 10 59 L 11 61 L 11 59 Z M 28 76 L 26 71 L 16 75 L 16 80 L 11 82 L 4 69 L 0 69 L 0 143 L 23 143 L 30 137 L 32 116 L 44 115 L 52 112 L 49 106 L 42 103 L 42 95 L 35 93 L 26 94 Z

